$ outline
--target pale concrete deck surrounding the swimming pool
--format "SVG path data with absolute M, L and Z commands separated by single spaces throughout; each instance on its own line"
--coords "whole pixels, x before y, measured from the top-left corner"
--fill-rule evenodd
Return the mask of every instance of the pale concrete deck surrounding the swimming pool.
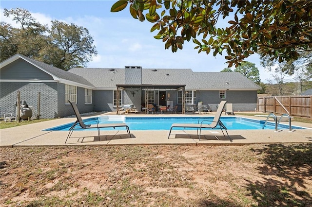
M 115 115 L 115 113 L 98 113 L 93 116 Z M 119 115 L 116 115 L 119 116 Z M 214 116 L 214 114 L 204 115 L 182 115 L 182 114 L 127 114 L 129 117 L 136 116 Z M 225 115 L 222 115 L 225 116 Z M 88 118 L 92 116 L 83 116 Z M 228 116 L 226 116 L 228 117 Z M 266 117 L 251 117 L 236 115 L 236 117 L 246 117 L 256 120 L 266 120 Z M 85 145 L 146 145 L 146 144 L 183 144 L 183 145 L 244 145 L 255 143 L 312 143 L 312 124 L 292 121 L 292 126 L 308 127 L 309 129 L 288 129 L 275 132 L 272 129 L 265 130 L 228 130 L 233 142 L 224 137 L 221 130 L 205 131 L 204 136 L 198 140 L 196 130 L 173 130 L 168 139 L 169 130 L 157 131 L 131 131 L 129 138 L 126 130 L 101 131 L 100 138 L 97 131 L 74 131 L 71 138 L 65 144 L 68 131 L 42 131 L 47 128 L 76 121 L 76 118 L 61 118 L 51 121 L 43 121 L 0 130 L 0 147 L 22 147 L 22 146 L 85 146 Z M 288 121 L 284 122 L 288 124 Z M 219 138 L 217 140 L 215 137 Z

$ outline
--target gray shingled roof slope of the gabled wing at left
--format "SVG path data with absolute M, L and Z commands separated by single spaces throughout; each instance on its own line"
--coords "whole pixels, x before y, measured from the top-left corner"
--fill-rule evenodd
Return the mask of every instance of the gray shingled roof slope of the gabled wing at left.
M 79 76 L 77 74 L 69 73 L 68 71 L 56 68 L 54 66 L 51 66 L 49 64 L 34 60 L 34 59 L 26 57 L 24 55 L 20 55 L 20 56 L 22 58 L 26 59 L 27 61 L 29 61 L 30 63 L 33 63 L 34 65 L 38 66 L 39 68 L 46 70 L 47 72 L 53 74 L 54 76 L 56 76 L 60 79 L 73 81 L 73 82 L 83 84 L 86 86 L 94 87 L 89 81 L 87 81 L 86 79 L 82 78 L 81 76 Z

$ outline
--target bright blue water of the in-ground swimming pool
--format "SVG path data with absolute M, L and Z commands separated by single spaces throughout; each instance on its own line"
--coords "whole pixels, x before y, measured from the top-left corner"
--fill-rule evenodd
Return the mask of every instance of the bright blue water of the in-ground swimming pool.
M 110 118 L 111 117 L 111 118 Z M 117 117 L 117 118 L 116 118 Z M 213 120 L 213 117 L 206 117 Z M 221 117 L 220 120 L 228 130 L 231 129 L 262 129 L 265 121 L 247 119 L 242 117 Z M 130 130 L 170 130 L 173 123 L 198 123 L 198 117 L 125 117 L 125 116 L 102 116 L 98 117 L 99 123 L 120 123 L 125 122 Z M 45 129 L 44 131 L 68 131 L 74 122 Z M 90 122 L 91 123 L 91 122 Z M 176 129 L 176 128 L 174 128 Z M 275 129 L 273 122 L 268 122 L 264 129 Z M 287 124 L 280 123 L 278 129 L 289 129 Z M 292 126 L 292 129 L 302 129 Z M 90 129 L 92 130 L 92 129 Z M 93 129 L 96 130 L 96 129 Z M 113 128 L 102 128 L 101 130 L 115 130 Z M 186 130 L 192 130 L 187 128 Z M 211 129 L 206 129 L 211 130 Z

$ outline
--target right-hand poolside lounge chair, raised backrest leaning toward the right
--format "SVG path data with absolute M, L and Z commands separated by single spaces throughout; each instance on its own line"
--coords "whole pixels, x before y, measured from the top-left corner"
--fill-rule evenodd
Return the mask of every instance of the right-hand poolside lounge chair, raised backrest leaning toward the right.
M 199 129 L 199 136 L 198 136 L 198 139 L 200 140 L 200 134 L 201 134 L 201 129 L 214 129 L 214 128 L 220 128 L 222 133 L 223 133 L 223 136 L 225 136 L 224 132 L 223 132 L 223 129 L 226 131 L 226 134 L 228 136 L 228 138 L 231 140 L 231 142 L 233 141 L 232 138 L 230 138 L 229 134 L 228 134 L 228 131 L 227 131 L 227 128 L 225 127 L 225 125 L 220 121 L 220 117 L 221 117 L 221 114 L 222 114 L 222 111 L 223 111 L 223 108 L 225 106 L 227 101 L 221 101 L 221 103 L 219 104 L 219 107 L 215 113 L 215 117 L 213 119 L 213 121 L 211 120 L 208 120 L 207 118 L 199 118 L 198 119 L 198 123 L 173 123 L 171 125 L 171 128 L 170 128 L 170 132 L 169 132 L 169 135 L 168 135 L 168 138 L 170 137 L 170 134 L 171 134 L 171 131 L 173 128 L 197 128 L 197 135 L 198 135 L 198 129 Z M 207 122 L 210 122 L 209 124 Z M 216 139 L 218 139 L 216 136 L 215 136 Z

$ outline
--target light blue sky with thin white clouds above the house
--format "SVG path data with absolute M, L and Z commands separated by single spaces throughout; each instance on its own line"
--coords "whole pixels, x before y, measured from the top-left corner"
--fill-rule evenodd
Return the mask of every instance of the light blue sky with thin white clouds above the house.
M 51 20 L 74 23 L 88 29 L 94 39 L 98 55 L 87 64 L 88 68 L 124 68 L 141 66 L 143 69 L 192 69 L 193 71 L 219 72 L 227 68 L 224 56 L 212 52 L 198 53 L 193 41 L 185 41 L 183 50 L 166 50 L 162 40 L 150 32 L 153 23 L 134 19 L 127 7 L 117 13 L 110 12 L 116 0 L 1 0 L 0 21 L 15 26 L 11 18 L 3 16 L 3 9 L 23 8 L 41 24 L 50 25 Z M 246 61 L 259 69 L 263 83 L 273 80 L 272 72 L 260 65 L 258 54 Z

